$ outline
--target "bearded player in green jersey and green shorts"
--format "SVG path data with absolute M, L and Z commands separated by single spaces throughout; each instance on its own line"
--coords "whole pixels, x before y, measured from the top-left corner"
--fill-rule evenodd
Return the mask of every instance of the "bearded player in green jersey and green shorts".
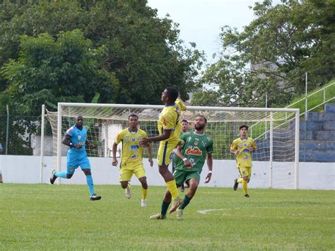
M 180 136 L 184 141 L 183 146 L 177 146 L 176 156 L 182 159 L 175 167 L 175 181 L 177 187 L 184 182 L 189 184 L 189 190 L 185 194 L 184 202 L 177 208 L 177 220 L 182 220 L 183 210 L 189 204 L 199 186 L 200 173 L 207 157 L 208 174 L 205 183 L 211 180 L 213 168 L 213 141 L 204 133 L 207 119 L 198 115 L 194 121 L 194 132 L 187 132 Z M 165 219 L 166 212 L 171 203 L 171 194 L 166 190 L 160 214 L 151 216 L 151 219 Z

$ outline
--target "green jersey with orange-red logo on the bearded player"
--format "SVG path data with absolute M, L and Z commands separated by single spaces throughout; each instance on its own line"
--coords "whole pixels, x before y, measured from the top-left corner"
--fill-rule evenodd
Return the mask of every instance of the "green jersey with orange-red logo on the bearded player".
M 192 167 L 187 168 L 184 161 L 178 161 L 175 169 L 201 173 L 207 153 L 213 153 L 213 140 L 206 134 L 194 132 L 186 132 L 180 136 L 180 139 L 185 142 L 182 155 L 191 161 Z

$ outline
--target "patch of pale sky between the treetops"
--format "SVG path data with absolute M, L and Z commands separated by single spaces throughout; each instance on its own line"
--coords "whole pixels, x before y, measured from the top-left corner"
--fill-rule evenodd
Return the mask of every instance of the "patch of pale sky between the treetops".
M 204 50 L 207 63 L 211 55 L 219 52 L 221 27 L 229 25 L 242 31 L 249 25 L 254 14 L 249 6 L 254 0 L 148 0 L 148 6 L 158 9 L 158 17 L 168 13 L 179 23 L 180 38 L 185 45 L 196 42 L 196 48 Z

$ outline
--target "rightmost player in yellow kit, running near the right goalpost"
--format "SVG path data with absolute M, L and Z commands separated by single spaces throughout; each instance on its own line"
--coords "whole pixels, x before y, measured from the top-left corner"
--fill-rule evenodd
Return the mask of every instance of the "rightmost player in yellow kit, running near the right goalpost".
M 246 198 L 249 198 L 247 183 L 250 180 L 252 172 L 252 155 L 251 153 L 256 150 L 254 139 L 248 138 L 247 132 L 249 127 L 246 125 L 240 126 L 240 138 L 235 139 L 230 146 L 230 153 L 235 154 L 237 168 L 241 177 L 235 179 L 234 190 L 237 190 L 238 183 L 242 183 L 243 193 Z

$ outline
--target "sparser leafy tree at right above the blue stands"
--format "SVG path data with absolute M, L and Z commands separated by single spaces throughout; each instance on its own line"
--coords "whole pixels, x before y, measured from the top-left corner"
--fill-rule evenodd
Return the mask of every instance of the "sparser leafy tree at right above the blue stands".
M 223 53 L 201 79 L 218 86 L 216 93 L 206 91 L 208 100 L 257 107 L 265 105 L 267 94 L 268 106 L 283 106 L 305 91 L 306 71 L 310 88 L 334 78 L 334 1 L 283 0 L 272 6 L 266 0 L 253 10 L 257 18 L 241 33 L 222 28 Z

